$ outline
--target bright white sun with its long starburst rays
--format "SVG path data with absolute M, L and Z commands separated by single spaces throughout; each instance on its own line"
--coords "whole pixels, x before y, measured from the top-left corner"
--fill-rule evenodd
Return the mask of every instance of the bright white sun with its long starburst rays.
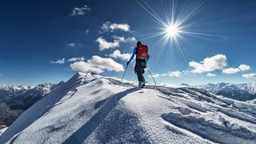
M 171 51 L 177 52 L 180 58 L 182 58 L 187 64 L 186 55 L 183 51 L 182 45 L 189 44 L 190 46 L 193 46 L 193 43 L 189 41 L 189 38 L 201 38 L 214 41 L 216 38 L 221 39 L 223 37 L 222 35 L 193 31 L 193 28 L 200 26 L 202 22 L 192 21 L 192 18 L 194 18 L 194 15 L 198 14 L 198 12 L 202 10 L 202 7 L 206 4 L 206 0 L 202 0 L 197 4 L 194 4 L 194 6 L 189 6 L 190 1 L 185 1 L 182 7 L 178 7 L 178 1 L 168 1 L 170 2 L 168 5 L 161 5 L 162 18 L 160 17 L 160 13 L 154 11 L 153 8 L 148 3 L 146 3 L 145 0 L 134 1 L 137 2 L 138 5 L 141 6 L 142 9 L 146 11 L 146 13 L 150 14 L 150 16 L 154 18 L 155 22 L 158 23 L 158 26 L 154 27 L 156 32 L 148 34 L 142 38 L 160 38 L 157 58 L 159 58 L 163 51 L 168 48 Z M 165 6 L 169 7 L 166 9 Z

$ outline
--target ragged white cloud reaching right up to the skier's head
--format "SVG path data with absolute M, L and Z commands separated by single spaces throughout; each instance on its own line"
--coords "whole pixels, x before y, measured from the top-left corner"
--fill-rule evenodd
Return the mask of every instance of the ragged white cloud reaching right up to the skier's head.
M 106 39 L 99 37 L 97 38 L 96 42 L 98 42 L 99 50 L 107 50 L 110 48 L 116 48 L 120 46 L 120 42 L 135 42 L 135 38 L 124 38 L 124 37 L 117 37 L 114 36 L 114 42 L 107 42 Z

